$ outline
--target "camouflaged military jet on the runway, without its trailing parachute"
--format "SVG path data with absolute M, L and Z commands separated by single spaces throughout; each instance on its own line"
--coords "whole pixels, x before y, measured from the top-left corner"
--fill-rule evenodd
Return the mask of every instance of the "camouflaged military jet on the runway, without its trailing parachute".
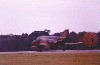
M 32 48 L 37 51 L 57 49 L 63 47 L 64 49 L 64 40 L 69 35 L 69 30 L 64 30 L 60 33 L 59 36 L 39 36 L 36 40 L 32 42 Z

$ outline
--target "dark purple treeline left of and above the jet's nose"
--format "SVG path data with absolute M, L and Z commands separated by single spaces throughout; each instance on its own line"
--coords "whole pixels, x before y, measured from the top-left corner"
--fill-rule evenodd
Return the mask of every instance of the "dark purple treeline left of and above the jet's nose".
M 49 35 L 49 31 L 34 31 L 29 35 L 27 33 L 22 35 L 0 35 L 0 51 L 29 51 L 31 50 L 32 41 L 42 35 Z

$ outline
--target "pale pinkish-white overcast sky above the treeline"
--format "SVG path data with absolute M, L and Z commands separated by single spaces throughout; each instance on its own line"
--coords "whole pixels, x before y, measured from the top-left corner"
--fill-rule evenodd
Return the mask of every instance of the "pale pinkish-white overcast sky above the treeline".
M 100 31 L 100 0 L 0 0 L 0 34 Z

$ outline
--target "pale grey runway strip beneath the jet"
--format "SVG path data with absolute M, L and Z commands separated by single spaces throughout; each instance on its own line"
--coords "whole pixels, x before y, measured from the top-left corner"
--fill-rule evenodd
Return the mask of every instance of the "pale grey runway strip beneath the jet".
M 34 53 L 100 53 L 100 50 L 48 50 L 43 52 L 37 51 L 17 51 L 17 52 L 0 52 L 0 54 L 34 54 Z

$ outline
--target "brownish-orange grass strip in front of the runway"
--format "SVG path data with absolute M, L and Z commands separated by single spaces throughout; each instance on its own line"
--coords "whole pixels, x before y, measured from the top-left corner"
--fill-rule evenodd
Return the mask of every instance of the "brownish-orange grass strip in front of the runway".
M 1 54 L 0 65 L 100 65 L 100 53 Z

